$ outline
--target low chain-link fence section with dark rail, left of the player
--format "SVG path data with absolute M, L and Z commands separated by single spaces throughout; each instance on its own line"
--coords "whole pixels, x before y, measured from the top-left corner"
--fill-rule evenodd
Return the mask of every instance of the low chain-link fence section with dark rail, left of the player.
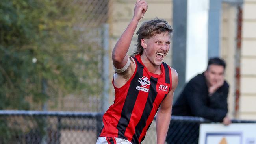
M 1 111 L 1 144 L 93 144 L 102 114 L 77 112 Z

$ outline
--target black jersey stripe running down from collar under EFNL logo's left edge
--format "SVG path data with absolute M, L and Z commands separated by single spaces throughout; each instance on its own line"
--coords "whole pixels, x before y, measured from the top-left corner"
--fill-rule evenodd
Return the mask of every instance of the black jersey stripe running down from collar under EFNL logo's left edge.
M 135 60 L 137 61 L 137 59 Z M 117 124 L 118 137 L 126 140 L 127 138 L 124 136 L 124 133 L 126 131 L 126 127 L 130 122 L 132 110 L 134 108 L 137 96 L 139 94 L 139 90 L 136 89 L 137 85 L 140 85 L 138 79 L 143 76 L 144 66 L 141 65 L 138 61 L 137 61 L 137 66 L 138 66 L 137 72 L 130 83 L 130 87 L 126 95 L 124 106 L 122 108 L 121 118 L 119 119 Z

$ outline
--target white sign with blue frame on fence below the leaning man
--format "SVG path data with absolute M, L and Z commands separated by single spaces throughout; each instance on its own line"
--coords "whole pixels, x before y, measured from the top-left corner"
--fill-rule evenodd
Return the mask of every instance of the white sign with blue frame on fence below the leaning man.
M 256 144 L 256 123 L 200 124 L 199 144 Z

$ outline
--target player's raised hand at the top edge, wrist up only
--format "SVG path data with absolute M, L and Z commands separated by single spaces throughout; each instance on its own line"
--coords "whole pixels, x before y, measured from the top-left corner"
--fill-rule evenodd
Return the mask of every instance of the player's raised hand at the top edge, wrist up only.
M 137 0 L 135 7 L 134 7 L 134 17 L 135 20 L 140 20 L 143 18 L 144 14 L 148 9 L 148 4 L 145 0 Z

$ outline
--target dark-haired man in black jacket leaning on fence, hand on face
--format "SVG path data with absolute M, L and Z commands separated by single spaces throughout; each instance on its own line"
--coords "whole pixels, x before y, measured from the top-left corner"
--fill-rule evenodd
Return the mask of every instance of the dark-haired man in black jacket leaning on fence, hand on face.
M 228 83 L 224 80 L 226 63 L 214 57 L 209 59 L 205 72 L 192 78 L 184 87 L 178 100 L 173 105 L 172 115 L 196 116 L 206 118 L 213 122 L 222 122 L 225 125 L 231 123 L 228 112 Z M 173 143 L 175 126 L 170 126 L 167 142 Z M 199 126 L 198 126 L 199 128 Z M 198 129 L 195 130 L 198 133 Z M 194 137 L 191 132 L 184 131 L 184 137 Z

